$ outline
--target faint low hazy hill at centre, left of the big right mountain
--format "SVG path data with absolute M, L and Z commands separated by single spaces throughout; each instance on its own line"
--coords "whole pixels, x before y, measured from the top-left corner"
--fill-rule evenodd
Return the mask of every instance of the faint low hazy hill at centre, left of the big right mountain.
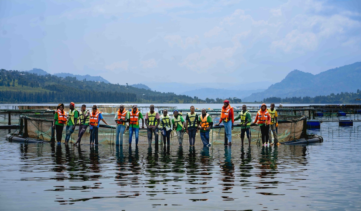
M 185 94 L 188 96 L 197 96 L 201 99 L 205 98 L 240 98 L 243 100 L 244 97 L 249 96 L 255 92 L 262 92 L 265 89 L 256 89 L 256 90 L 228 90 L 228 89 L 214 89 L 214 88 L 202 88 L 202 89 L 195 89 L 191 91 L 186 91 L 181 94 Z

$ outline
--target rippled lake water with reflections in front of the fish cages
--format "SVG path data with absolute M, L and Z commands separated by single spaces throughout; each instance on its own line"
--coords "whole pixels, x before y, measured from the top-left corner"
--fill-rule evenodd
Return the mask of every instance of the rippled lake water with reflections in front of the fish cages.
M 9 143 L 0 210 L 361 210 L 361 124 L 312 145 L 117 148 Z

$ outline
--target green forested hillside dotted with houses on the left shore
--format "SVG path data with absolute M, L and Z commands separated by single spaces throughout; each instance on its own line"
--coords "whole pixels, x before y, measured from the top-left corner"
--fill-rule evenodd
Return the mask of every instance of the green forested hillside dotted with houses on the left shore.
M 198 98 L 139 89 L 128 85 L 77 80 L 76 77 L 37 75 L 29 72 L 0 70 L 2 103 L 195 103 Z

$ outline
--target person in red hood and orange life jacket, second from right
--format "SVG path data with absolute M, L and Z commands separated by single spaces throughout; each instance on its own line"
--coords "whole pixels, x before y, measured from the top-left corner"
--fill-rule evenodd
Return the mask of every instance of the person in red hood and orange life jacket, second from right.
M 255 122 L 253 123 L 257 123 L 260 126 L 262 146 L 266 145 L 267 147 L 271 116 L 267 111 L 266 104 L 261 105 L 260 110 L 257 112 Z

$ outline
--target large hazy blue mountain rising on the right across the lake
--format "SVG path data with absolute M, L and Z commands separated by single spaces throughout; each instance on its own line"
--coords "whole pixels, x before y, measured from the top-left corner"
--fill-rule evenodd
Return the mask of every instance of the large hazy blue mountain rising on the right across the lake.
M 317 75 L 293 70 L 279 83 L 263 92 L 253 93 L 242 101 L 262 101 L 268 97 L 315 97 L 331 93 L 352 92 L 361 87 L 361 62 L 321 72 Z

